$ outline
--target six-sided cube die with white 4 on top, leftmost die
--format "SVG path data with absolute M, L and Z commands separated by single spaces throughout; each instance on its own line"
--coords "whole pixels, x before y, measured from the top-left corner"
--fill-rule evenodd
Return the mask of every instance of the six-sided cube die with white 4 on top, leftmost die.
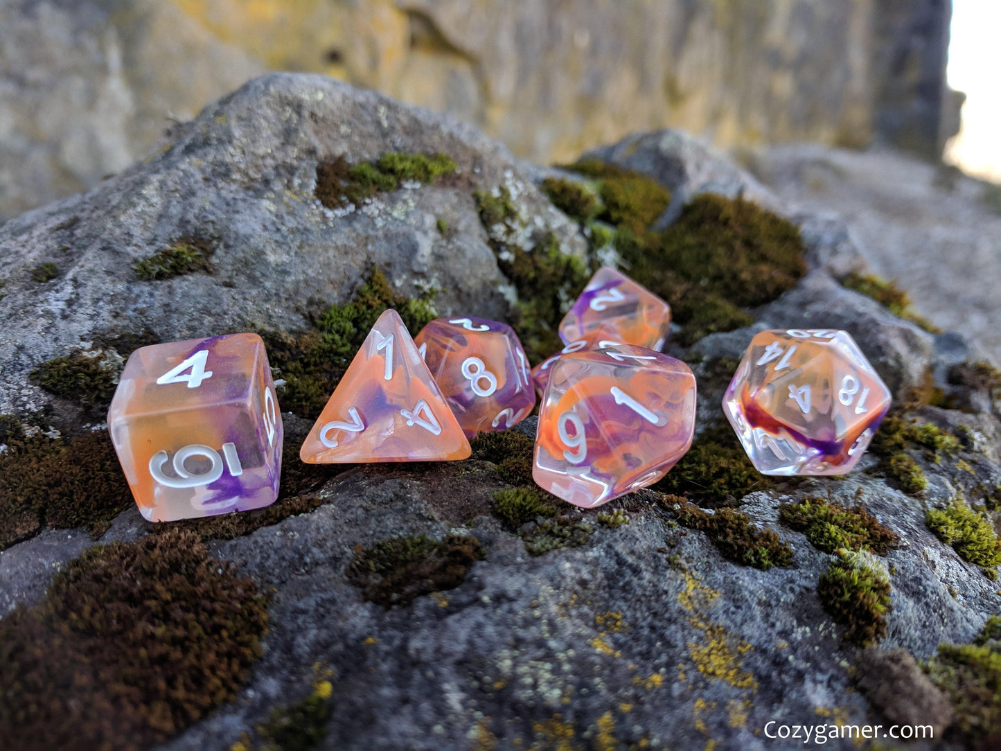
M 108 410 L 108 431 L 149 521 L 259 509 L 277 498 L 281 414 L 256 334 L 137 349 Z

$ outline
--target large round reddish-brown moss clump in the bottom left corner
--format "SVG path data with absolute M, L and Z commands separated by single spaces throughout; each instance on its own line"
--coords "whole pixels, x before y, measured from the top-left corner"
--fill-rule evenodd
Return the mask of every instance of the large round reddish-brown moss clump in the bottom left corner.
M 0 621 L 0 733 L 13 748 L 141 748 L 235 698 L 267 603 L 177 532 L 96 546 Z

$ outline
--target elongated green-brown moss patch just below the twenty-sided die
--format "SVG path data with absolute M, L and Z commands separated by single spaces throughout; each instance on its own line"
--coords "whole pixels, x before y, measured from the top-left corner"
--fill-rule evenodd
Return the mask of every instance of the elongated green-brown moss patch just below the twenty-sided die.
M 834 501 L 805 498 L 779 507 L 779 521 L 802 532 L 825 553 L 866 550 L 885 556 L 899 540 L 862 504 L 849 508 Z

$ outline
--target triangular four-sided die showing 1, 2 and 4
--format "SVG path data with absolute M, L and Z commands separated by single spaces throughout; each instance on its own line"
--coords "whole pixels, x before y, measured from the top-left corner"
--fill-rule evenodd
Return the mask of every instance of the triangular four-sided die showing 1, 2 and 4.
M 312 427 L 308 464 L 434 462 L 471 454 L 406 326 L 382 313 Z

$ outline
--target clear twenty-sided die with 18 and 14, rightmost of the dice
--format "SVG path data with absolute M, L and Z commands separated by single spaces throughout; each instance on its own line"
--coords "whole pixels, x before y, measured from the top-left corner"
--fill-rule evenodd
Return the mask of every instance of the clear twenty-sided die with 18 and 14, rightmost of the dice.
M 890 407 L 890 392 L 846 332 L 761 331 L 723 410 L 764 475 L 844 475 Z

